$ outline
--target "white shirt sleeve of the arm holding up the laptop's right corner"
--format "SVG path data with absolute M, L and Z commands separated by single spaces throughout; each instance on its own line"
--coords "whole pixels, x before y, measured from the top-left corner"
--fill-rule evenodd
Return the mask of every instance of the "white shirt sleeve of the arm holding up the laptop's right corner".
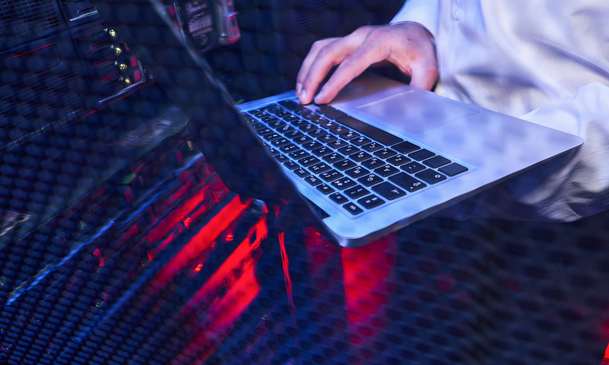
M 574 221 L 609 209 L 609 86 L 582 86 L 522 119 L 583 137 L 576 150 L 491 187 L 437 215 Z

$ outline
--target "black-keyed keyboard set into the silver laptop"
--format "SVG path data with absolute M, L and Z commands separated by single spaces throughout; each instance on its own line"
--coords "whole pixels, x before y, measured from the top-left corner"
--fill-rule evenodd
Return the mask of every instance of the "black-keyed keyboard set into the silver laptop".
M 277 161 L 353 216 L 468 170 L 329 105 L 281 100 L 241 114 Z

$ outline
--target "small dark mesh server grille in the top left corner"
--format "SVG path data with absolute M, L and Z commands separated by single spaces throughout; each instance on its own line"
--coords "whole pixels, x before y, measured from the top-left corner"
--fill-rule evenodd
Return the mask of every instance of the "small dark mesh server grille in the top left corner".
M 51 0 L 0 1 L 0 44 L 30 38 L 60 25 Z

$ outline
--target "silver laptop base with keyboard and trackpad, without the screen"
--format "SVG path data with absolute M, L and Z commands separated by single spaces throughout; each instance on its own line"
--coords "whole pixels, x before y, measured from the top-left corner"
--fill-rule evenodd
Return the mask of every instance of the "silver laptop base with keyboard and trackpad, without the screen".
M 341 246 L 369 243 L 583 143 L 375 74 L 326 106 L 238 106 Z

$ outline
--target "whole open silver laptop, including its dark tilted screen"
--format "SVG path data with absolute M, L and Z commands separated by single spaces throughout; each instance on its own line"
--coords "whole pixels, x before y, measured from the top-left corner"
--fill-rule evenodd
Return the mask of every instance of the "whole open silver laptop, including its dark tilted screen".
M 312 214 L 343 247 L 365 245 L 583 143 L 374 74 L 329 105 L 294 91 L 234 107 L 163 3 L 92 1 L 191 117 L 198 147 L 229 189 Z M 125 13 L 139 14 L 127 17 Z M 167 57 L 171 55 L 171 57 Z

